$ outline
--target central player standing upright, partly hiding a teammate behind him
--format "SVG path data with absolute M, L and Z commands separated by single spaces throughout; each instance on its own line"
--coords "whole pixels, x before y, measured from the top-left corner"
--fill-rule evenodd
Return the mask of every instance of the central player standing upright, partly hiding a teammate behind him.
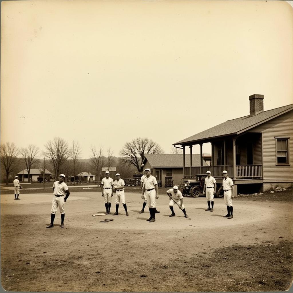
M 156 177 L 151 175 L 150 169 L 145 169 L 144 173 L 146 174 L 146 178 L 144 179 L 144 185 L 142 188 L 142 199 L 144 199 L 144 192 L 146 191 L 147 195 L 147 204 L 149 207 L 149 213 L 150 217 L 147 219 L 150 223 L 155 222 L 155 216 L 156 216 L 156 199 L 159 198 L 159 188 L 158 188 L 158 182 L 156 180 Z

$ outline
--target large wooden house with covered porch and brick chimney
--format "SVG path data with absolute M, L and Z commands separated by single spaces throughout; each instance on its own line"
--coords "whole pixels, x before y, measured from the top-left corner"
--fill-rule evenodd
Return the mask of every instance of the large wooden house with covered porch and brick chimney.
M 217 183 L 222 171 L 233 179 L 235 194 L 243 190 L 266 191 L 276 185 L 288 187 L 293 182 L 293 104 L 263 111 L 263 95 L 249 96 L 250 114 L 228 120 L 212 128 L 174 143 L 185 148 L 210 142 L 211 166 L 187 166 L 183 160 L 184 177 L 207 168 Z

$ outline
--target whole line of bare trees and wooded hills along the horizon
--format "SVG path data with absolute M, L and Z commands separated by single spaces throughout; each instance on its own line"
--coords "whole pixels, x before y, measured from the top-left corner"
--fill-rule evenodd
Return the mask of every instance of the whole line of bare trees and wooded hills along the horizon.
M 102 145 L 91 146 L 90 158 L 86 160 L 81 159 L 81 151 L 79 142 L 73 140 L 68 144 L 60 137 L 48 141 L 43 151 L 34 144 L 19 149 L 13 142 L 6 142 L 1 144 L 0 148 L 1 182 L 5 178 L 8 184 L 9 176 L 13 177 L 22 169 L 28 172 L 28 182 L 30 182 L 30 170 L 33 168 L 38 168 L 41 174 L 45 174 L 45 170 L 50 169 L 55 178 L 58 178 L 60 173 L 64 173 L 67 180 L 70 176 L 74 176 L 75 179 L 81 172 L 89 172 L 101 180 L 102 168 L 115 166 L 122 178 L 130 178 L 135 171 L 141 171 L 145 154 L 164 153 L 158 143 L 141 137 L 126 142 L 118 158 L 113 156 L 111 147 L 105 150 Z M 178 149 L 172 148 L 171 152 L 178 153 Z

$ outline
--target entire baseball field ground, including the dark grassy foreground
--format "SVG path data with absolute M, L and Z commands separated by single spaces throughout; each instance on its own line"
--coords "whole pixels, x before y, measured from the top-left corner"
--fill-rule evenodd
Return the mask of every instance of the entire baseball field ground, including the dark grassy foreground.
M 129 216 L 105 211 L 97 192 L 71 190 L 65 228 L 59 209 L 50 224 L 52 193 L 1 195 L 1 284 L 8 291 L 211 292 L 283 291 L 292 282 L 292 196 L 288 201 L 224 199 L 214 212 L 205 197 L 184 198 L 191 220 L 167 195 L 156 222 L 139 214 L 139 193 L 125 192 Z M 115 212 L 115 195 L 111 212 Z M 108 223 L 100 222 L 113 219 Z

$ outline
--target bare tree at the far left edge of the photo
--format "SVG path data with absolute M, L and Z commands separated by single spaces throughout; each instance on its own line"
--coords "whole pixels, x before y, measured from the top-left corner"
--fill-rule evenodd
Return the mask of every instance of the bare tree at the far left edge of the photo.
M 0 160 L 1 165 L 6 173 L 6 185 L 8 185 L 9 174 L 16 168 L 18 154 L 19 150 L 13 142 L 6 142 L 5 144 L 1 144 Z

